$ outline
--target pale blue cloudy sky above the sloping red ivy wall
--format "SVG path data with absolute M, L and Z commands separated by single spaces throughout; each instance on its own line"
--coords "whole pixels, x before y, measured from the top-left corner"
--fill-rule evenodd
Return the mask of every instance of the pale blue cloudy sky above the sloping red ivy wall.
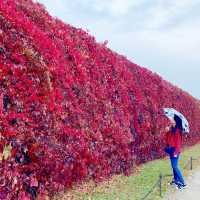
M 38 0 L 49 13 L 200 99 L 200 0 Z M 55 3 L 56 2 L 56 3 Z

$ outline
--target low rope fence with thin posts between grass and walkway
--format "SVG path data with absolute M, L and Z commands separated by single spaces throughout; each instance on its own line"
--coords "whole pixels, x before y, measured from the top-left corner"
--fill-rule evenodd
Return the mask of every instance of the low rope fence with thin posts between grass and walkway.
M 198 160 L 197 158 L 193 158 L 193 157 L 190 157 L 189 160 L 186 162 L 186 164 L 183 166 L 183 169 L 187 169 L 188 168 L 188 165 L 189 165 L 189 169 L 190 170 L 193 170 L 193 161 L 195 160 Z M 159 178 L 158 180 L 155 182 L 155 184 L 153 185 L 153 187 L 144 195 L 144 197 L 141 198 L 141 200 L 145 200 L 147 199 L 147 197 L 149 197 L 149 195 L 151 193 L 154 192 L 154 190 L 156 188 L 159 189 L 159 195 L 160 197 L 162 197 L 162 194 L 163 194 L 163 181 L 164 181 L 164 178 L 166 177 L 172 177 L 173 175 L 172 174 L 165 174 L 163 175 L 162 173 L 159 175 Z

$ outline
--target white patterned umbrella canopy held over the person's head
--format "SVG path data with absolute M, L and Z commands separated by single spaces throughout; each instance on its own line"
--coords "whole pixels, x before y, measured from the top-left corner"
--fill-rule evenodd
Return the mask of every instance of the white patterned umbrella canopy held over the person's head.
M 181 120 L 181 123 L 182 123 L 183 133 L 189 133 L 189 131 L 190 131 L 189 123 L 188 123 L 187 119 L 183 116 L 183 114 L 181 114 L 180 112 L 178 112 L 174 108 L 163 108 L 163 110 L 164 110 L 165 115 L 169 119 L 175 119 L 175 118 L 178 117 Z

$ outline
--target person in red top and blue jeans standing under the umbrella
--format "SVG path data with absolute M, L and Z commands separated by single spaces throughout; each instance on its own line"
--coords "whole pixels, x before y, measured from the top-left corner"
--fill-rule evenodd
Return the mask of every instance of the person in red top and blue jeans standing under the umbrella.
M 169 154 L 171 167 L 173 171 L 173 181 L 170 183 L 178 189 L 186 187 L 183 175 L 179 168 L 179 158 L 182 143 L 182 121 L 178 116 L 171 119 L 171 126 L 166 127 L 166 148 L 165 152 Z

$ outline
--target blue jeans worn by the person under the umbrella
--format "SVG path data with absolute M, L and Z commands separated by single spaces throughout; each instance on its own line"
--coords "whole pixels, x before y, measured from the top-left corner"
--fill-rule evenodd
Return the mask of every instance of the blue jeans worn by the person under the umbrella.
M 178 166 L 179 155 L 177 157 L 170 156 L 170 160 L 171 160 L 171 166 L 173 170 L 175 183 L 180 184 L 180 185 L 185 185 L 185 181 L 183 179 L 181 170 L 179 169 L 179 166 Z

